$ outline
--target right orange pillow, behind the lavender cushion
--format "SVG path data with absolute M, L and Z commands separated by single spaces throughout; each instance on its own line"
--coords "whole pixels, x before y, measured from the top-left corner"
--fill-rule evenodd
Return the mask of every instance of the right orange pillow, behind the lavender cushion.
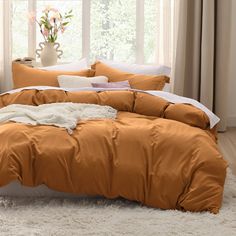
M 109 82 L 128 80 L 131 88 L 141 90 L 162 90 L 165 83 L 169 83 L 170 78 L 165 75 L 139 75 L 123 72 L 114 69 L 106 64 L 97 61 L 91 66 L 95 71 L 95 76 L 107 76 Z

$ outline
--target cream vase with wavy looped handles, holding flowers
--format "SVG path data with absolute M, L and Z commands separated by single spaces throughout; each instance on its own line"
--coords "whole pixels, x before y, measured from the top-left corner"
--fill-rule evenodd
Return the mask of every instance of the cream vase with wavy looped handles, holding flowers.
M 36 50 L 36 54 L 41 59 L 42 66 L 53 66 L 57 64 L 57 58 L 61 58 L 62 50 L 59 50 L 59 43 L 43 42 L 39 43 L 40 49 Z

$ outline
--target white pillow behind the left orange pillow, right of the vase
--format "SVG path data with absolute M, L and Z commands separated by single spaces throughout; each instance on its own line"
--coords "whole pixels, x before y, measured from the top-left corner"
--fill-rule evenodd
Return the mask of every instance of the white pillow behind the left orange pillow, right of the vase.
M 60 64 L 55 66 L 40 67 L 41 70 L 57 70 L 57 71 L 79 71 L 88 69 L 88 64 L 86 58 L 83 58 L 77 62 L 72 62 L 68 64 Z

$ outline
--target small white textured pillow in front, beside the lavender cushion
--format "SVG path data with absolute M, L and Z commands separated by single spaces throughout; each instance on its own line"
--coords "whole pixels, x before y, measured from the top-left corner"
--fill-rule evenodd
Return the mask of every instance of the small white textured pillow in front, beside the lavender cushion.
M 107 83 L 106 76 L 83 77 L 74 75 L 59 75 L 57 81 L 61 88 L 93 87 L 92 83 Z

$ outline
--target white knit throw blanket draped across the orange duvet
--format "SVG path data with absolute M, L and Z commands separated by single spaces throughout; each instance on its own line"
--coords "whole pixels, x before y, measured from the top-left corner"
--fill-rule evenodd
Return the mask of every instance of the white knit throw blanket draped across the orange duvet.
M 13 104 L 0 109 L 0 123 L 15 121 L 30 125 L 53 125 L 71 134 L 80 120 L 115 119 L 110 106 L 83 103 L 51 103 L 39 106 Z

